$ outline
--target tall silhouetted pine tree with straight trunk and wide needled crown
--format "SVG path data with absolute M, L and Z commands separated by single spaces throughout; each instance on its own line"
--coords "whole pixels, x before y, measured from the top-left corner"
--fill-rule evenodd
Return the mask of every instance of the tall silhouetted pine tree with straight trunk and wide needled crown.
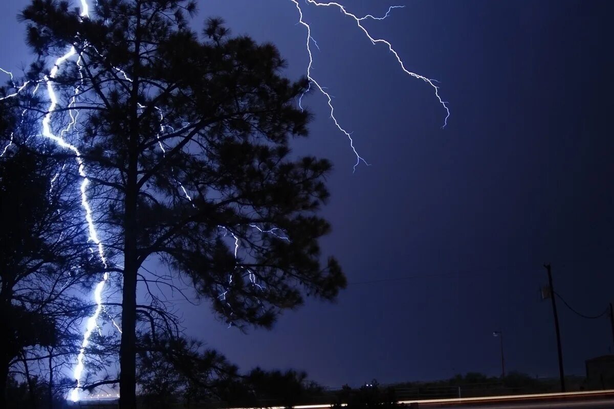
M 88 194 L 104 208 L 95 223 L 123 256 L 108 269 L 123 275 L 123 408 L 136 404 L 138 338 L 179 337 L 159 294 L 136 305 L 138 282 L 176 288 L 142 270 L 146 259 L 188 278 L 235 326 L 271 327 L 305 296 L 333 300 L 346 284 L 335 259 L 321 265 L 317 242 L 330 231 L 316 215 L 330 162 L 290 155 L 290 138 L 307 134 L 296 100 L 308 82 L 282 77 L 273 45 L 230 37 L 219 19 L 199 37 L 184 17 L 194 11 L 186 0 L 98 0 L 81 17 L 66 2 L 33 0 L 21 14 L 38 55 L 74 45 L 80 56 L 54 83 L 66 99 L 79 88 L 71 110 L 80 121 L 66 137 L 78 141 Z M 44 74 L 35 64 L 28 76 Z M 66 109 L 53 115 L 54 132 L 70 122 Z

